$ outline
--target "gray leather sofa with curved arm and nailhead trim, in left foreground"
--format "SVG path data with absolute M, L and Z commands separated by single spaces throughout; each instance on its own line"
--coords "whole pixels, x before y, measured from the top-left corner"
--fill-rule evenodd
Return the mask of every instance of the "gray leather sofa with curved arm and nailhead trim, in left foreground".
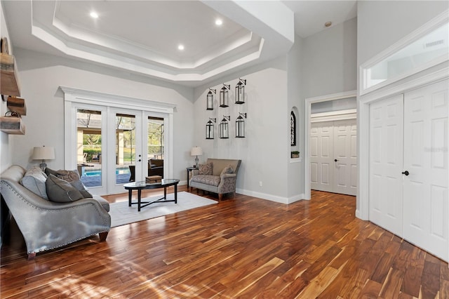
M 43 199 L 20 184 L 25 169 L 11 166 L 1 173 L 0 192 L 27 246 L 28 258 L 36 253 L 100 235 L 105 241 L 111 227 L 109 204 L 102 197 L 59 203 Z

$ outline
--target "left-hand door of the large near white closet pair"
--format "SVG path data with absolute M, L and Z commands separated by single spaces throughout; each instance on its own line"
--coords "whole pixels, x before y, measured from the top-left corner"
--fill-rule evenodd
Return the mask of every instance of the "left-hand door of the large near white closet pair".
M 370 220 L 402 236 L 403 95 L 370 105 Z

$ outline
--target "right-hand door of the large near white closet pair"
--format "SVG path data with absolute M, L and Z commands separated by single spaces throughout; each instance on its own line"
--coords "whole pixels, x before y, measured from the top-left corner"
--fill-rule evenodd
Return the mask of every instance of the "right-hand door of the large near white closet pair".
M 404 98 L 403 237 L 448 260 L 448 81 Z

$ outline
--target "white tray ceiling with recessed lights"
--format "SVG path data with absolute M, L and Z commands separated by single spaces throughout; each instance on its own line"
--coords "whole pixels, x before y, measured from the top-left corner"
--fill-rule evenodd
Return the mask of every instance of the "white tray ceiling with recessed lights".
M 1 0 L 13 47 L 198 86 L 356 17 L 356 1 Z M 98 13 L 93 19 L 91 11 Z M 215 25 L 220 18 L 221 26 Z M 185 46 L 183 51 L 177 46 Z

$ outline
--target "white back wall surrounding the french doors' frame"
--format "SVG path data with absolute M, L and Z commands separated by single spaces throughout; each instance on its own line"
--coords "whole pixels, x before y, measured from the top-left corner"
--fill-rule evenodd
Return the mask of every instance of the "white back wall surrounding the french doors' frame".
M 55 147 L 55 159 L 47 161 L 48 167 L 64 168 L 64 95 L 59 87 L 67 86 L 175 104 L 173 177 L 187 180 L 185 167 L 191 164 L 189 150 L 194 124 L 192 88 L 132 77 L 21 48 L 16 48 L 15 55 L 20 62 L 27 116 L 24 117 L 26 134 L 13 136 L 13 164 L 25 168 L 29 164 L 39 164 L 39 161 L 30 160 L 32 148 L 47 145 Z

